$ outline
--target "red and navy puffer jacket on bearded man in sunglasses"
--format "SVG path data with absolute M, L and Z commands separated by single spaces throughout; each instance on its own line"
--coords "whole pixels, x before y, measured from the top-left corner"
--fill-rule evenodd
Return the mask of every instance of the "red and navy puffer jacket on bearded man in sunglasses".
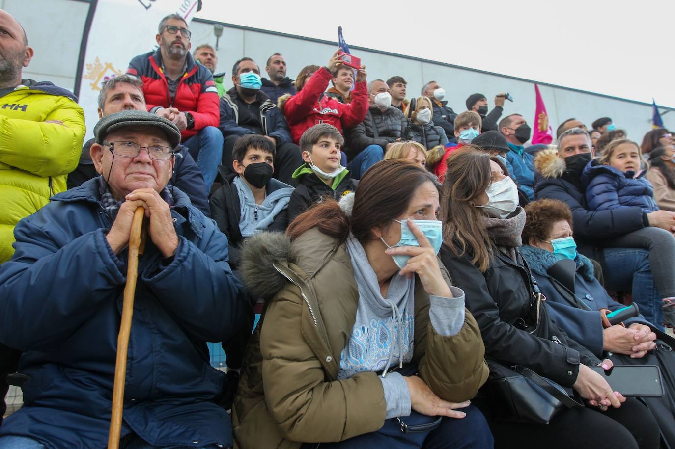
M 213 82 L 211 71 L 196 63 L 190 53 L 187 57 L 186 72 L 178 84 L 173 100 L 169 94 L 169 84 L 161 68 L 162 56 L 159 49 L 134 57 L 127 69 L 127 73 L 138 76 L 142 80 L 148 111 L 157 107 L 174 107 L 192 115 L 194 127 L 181 131 L 183 141 L 194 136 L 203 127 L 218 126 L 220 122 L 218 90 Z

